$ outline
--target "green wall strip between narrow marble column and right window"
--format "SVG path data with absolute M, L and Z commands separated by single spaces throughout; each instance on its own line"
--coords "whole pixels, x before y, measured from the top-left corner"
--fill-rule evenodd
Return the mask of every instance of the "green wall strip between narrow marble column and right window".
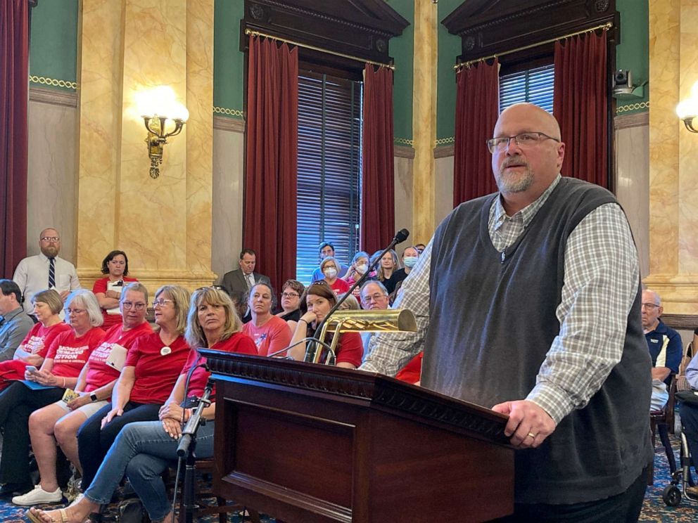
M 440 0 L 438 3 L 438 63 L 436 90 L 436 145 L 450 146 L 455 135 L 456 75 L 453 65 L 460 55 L 460 37 L 450 34 L 441 20 L 463 0 Z

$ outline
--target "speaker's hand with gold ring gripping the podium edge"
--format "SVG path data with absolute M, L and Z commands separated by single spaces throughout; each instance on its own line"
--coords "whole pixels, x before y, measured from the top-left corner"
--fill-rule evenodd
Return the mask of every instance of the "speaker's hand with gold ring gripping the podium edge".
M 492 410 L 509 416 L 504 433 L 516 448 L 536 448 L 555 430 L 550 414 L 527 399 L 497 403 Z

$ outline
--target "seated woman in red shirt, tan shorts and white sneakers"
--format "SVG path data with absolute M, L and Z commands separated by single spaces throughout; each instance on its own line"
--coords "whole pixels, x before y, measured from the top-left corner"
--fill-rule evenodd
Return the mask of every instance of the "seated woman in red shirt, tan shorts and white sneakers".
M 41 482 L 23 496 L 15 496 L 15 505 L 60 503 L 63 493 L 56 478 L 56 443 L 65 457 L 82 474 L 77 456 L 77 430 L 91 415 L 107 404 L 119 377 L 127 350 L 153 329 L 146 321 L 148 291 L 140 283 L 131 283 L 121 294 L 120 310 L 124 322 L 107 330 L 103 341 L 92 351 L 77 378 L 71 401 L 58 400 L 34 411 L 29 418 L 29 433 Z

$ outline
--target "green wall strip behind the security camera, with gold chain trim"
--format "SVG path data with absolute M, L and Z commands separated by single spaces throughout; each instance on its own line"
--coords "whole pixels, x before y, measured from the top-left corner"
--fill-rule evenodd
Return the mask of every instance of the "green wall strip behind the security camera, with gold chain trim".
M 616 46 L 616 69 L 633 73 L 633 84 L 649 80 L 649 2 L 647 0 L 616 0 L 621 13 L 621 42 Z M 633 100 L 618 100 L 616 114 L 646 111 L 649 85 L 645 95 Z

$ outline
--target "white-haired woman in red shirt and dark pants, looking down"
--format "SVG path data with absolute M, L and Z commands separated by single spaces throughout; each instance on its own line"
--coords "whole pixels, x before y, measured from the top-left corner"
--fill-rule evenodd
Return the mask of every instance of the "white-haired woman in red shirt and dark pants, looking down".
M 75 388 L 82 367 L 104 337 L 99 304 L 89 290 L 78 289 L 68 295 L 65 317 L 70 330 L 55 338 L 41 368 L 28 366 L 27 383 L 15 382 L 0 394 L 0 427 L 4 430 L 0 456 L 0 482 L 4 483 L 1 497 L 33 489 L 27 454 L 30 414 L 60 400 L 65 389 Z

